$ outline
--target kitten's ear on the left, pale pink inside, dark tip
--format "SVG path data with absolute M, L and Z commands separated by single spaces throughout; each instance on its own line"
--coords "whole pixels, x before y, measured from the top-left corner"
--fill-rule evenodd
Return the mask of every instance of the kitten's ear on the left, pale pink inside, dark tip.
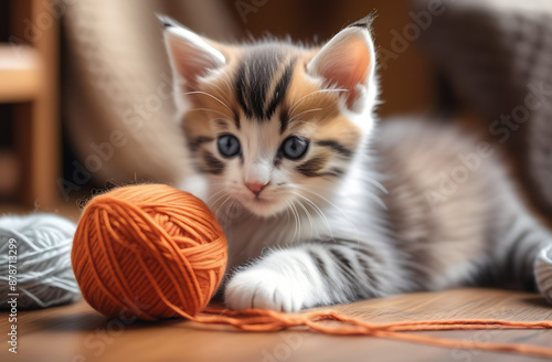
M 172 70 L 187 84 L 226 64 L 224 55 L 208 40 L 185 29 L 171 18 L 158 15 L 164 25 L 164 43 Z

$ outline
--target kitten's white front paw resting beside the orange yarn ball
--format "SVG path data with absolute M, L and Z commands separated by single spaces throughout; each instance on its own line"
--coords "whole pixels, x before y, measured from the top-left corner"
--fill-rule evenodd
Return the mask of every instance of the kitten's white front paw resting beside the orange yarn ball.
M 268 269 L 247 269 L 237 273 L 224 291 L 226 306 L 233 310 L 247 308 L 298 312 L 305 291 L 291 280 Z

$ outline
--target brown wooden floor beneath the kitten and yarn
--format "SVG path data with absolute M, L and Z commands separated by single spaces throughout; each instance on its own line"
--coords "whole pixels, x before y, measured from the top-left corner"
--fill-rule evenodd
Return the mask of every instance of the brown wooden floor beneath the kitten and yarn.
M 457 289 L 411 294 L 339 306 L 342 313 L 373 321 L 492 318 L 552 320 L 552 306 L 535 294 Z M 8 313 L 0 313 L 7 338 Z M 552 347 L 552 330 L 447 331 L 432 336 L 465 341 Z M 109 321 L 84 301 L 18 315 L 18 354 L 2 341 L 0 361 L 542 361 L 524 355 L 418 345 L 367 337 L 335 337 L 302 330 L 251 333 L 185 320 Z

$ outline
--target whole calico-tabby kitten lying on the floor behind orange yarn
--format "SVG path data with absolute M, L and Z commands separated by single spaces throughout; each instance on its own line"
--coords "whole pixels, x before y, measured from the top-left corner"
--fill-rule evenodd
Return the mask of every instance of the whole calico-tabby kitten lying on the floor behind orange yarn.
M 230 308 L 534 284 L 538 253 L 552 300 L 552 236 L 490 145 L 429 123 L 374 129 L 369 18 L 321 47 L 221 44 L 161 21 L 197 171 L 182 189 L 223 223 Z

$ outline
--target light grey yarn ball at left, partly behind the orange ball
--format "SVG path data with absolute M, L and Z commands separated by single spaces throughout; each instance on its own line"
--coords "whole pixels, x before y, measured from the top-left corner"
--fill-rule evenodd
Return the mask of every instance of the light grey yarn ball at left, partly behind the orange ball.
M 71 266 L 75 228 L 71 221 L 53 214 L 0 217 L 0 309 L 10 308 L 8 301 L 13 292 L 19 294 L 18 310 L 47 308 L 79 298 Z M 12 270 L 17 267 L 15 291 L 10 290 L 9 283 L 13 251 L 17 251 L 17 263 L 11 267 Z

